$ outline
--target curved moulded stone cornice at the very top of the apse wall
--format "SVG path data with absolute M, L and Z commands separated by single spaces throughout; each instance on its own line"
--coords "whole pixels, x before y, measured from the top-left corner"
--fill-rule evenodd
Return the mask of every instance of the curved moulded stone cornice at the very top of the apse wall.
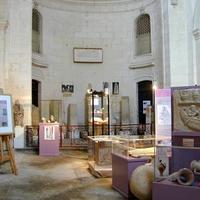
M 68 12 L 112 13 L 145 9 L 155 0 L 34 0 L 33 2 L 37 6 Z

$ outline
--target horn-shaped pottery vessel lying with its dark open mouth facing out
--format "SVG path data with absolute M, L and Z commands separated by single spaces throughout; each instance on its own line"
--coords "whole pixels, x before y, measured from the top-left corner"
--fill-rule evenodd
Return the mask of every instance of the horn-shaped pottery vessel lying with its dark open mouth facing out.
M 194 182 L 194 174 L 190 169 L 183 168 L 178 170 L 177 172 L 172 173 L 169 177 L 168 180 L 172 182 L 177 182 L 180 185 L 192 185 Z

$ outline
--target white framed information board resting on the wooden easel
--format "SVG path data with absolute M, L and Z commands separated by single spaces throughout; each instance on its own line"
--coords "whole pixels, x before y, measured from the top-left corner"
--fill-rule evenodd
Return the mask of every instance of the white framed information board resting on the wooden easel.
M 0 135 L 13 134 L 12 97 L 0 95 Z

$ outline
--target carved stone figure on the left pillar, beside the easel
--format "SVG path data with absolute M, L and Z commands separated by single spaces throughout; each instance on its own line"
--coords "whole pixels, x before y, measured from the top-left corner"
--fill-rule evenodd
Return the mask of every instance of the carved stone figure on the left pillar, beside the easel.
M 15 126 L 23 126 L 23 120 L 24 120 L 24 109 L 23 106 L 20 104 L 19 100 L 17 99 L 15 101 L 15 104 L 13 106 L 13 112 L 14 112 L 14 124 Z

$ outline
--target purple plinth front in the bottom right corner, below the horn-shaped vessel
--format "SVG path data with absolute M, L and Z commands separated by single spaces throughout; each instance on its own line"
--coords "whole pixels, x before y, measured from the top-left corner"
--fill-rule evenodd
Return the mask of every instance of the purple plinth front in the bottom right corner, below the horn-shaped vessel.
M 199 200 L 200 188 L 182 186 L 170 181 L 153 183 L 153 200 Z

